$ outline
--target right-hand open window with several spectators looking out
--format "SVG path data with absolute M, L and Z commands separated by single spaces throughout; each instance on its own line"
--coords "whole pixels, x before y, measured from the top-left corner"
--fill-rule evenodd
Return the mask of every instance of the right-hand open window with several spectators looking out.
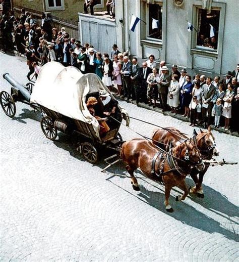
M 197 47 L 217 50 L 219 18 L 219 10 L 212 10 L 207 14 L 207 10 L 198 9 Z

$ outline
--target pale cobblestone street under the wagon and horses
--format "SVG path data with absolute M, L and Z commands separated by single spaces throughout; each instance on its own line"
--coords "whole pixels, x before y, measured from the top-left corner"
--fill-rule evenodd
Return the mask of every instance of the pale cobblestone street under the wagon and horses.
M 4 72 L 27 82 L 23 58 L 0 53 L 0 62 L 1 90 L 10 92 Z M 121 104 L 134 117 L 193 133 L 188 123 Z M 204 199 L 175 202 L 175 188 L 167 213 L 164 187 L 140 171 L 136 192 L 122 163 L 102 173 L 103 161 L 84 161 L 71 138 L 47 140 L 29 106 L 17 103 L 14 119 L 0 114 L 0 260 L 238 261 L 238 166 L 210 167 Z M 147 136 L 153 130 L 137 121 L 131 127 Z M 121 134 L 138 137 L 124 126 Z M 213 134 L 218 159 L 238 161 L 238 138 Z

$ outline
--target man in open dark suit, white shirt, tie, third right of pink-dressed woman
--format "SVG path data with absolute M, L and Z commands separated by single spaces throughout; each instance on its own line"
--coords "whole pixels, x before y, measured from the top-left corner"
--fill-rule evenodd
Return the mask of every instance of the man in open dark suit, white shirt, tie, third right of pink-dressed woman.
M 152 73 L 152 69 L 147 66 L 146 62 L 143 62 L 142 67 L 140 68 L 139 71 L 139 82 L 141 84 L 140 89 L 138 89 L 138 93 L 140 96 L 141 102 L 144 102 L 145 104 L 148 104 L 148 99 L 147 99 L 147 78 L 149 74 Z

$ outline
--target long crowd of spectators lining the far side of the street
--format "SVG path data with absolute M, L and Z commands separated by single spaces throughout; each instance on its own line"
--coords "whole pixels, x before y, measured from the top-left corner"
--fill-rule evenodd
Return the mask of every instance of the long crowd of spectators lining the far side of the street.
M 182 113 L 192 126 L 214 124 L 238 132 L 239 64 L 223 79 L 191 76 L 184 68 L 178 71 L 175 64 L 169 69 L 165 61 L 157 68 L 153 55 L 140 65 L 137 58 L 131 61 L 127 52 L 120 52 L 116 44 L 110 54 L 101 54 L 89 43 L 82 46 L 79 40 L 70 38 L 64 27 L 57 31 L 51 24 L 44 13 L 39 23 L 24 9 L 19 18 L 2 18 L 4 48 L 26 54 L 29 80 L 33 73 L 37 77 L 40 66 L 57 61 L 77 67 L 83 74 L 97 74 L 110 91 L 117 90 L 115 95 L 126 101 Z

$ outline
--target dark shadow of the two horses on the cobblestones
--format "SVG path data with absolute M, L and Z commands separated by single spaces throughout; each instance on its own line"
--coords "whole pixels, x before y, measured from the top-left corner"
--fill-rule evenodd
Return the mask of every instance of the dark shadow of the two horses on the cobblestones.
M 123 188 L 121 185 L 119 185 L 120 183 L 117 184 L 115 183 L 115 181 L 112 181 L 112 178 L 117 176 L 119 178 L 127 178 L 130 183 L 130 179 L 127 177 L 129 176 L 129 174 L 127 173 L 127 176 L 124 176 L 121 172 L 121 169 L 125 170 L 124 168 L 120 166 L 117 166 L 117 167 L 115 166 L 111 168 L 110 171 L 114 174 L 112 174 L 112 176 L 108 178 L 107 180 L 111 182 L 113 185 L 123 189 L 124 191 L 137 197 L 139 200 L 143 201 L 144 203 L 149 204 L 150 206 L 162 211 L 163 213 L 167 215 L 170 215 L 174 219 L 181 221 L 182 223 L 188 226 L 203 230 L 210 234 L 219 233 L 228 239 L 238 241 L 238 236 L 232 233 L 231 231 L 222 228 L 219 222 L 211 219 L 206 214 L 196 210 L 193 206 L 185 202 L 175 202 L 175 198 L 172 196 L 172 194 L 170 195 L 169 201 L 172 207 L 174 208 L 174 212 L 168 213 L 164 209 L 164 188 L 162 190 L 162 186 L 155 186 L 153 183 L 151 183 L 152 181 L 148 180 L 147 178 L 139 177 L 143 180 L 144 184 L 146 183 L 146 184 L 149 184 L 151 187 L 156 187 L 157 191 L 161 191 L 161 192 L 155 192 L 155 191 L 150 191 L 146 189 L 144 185 L 140 183 L 142 180 L 141 181 L 139 180 L 140 192 L 137 195 L 136 195 L 136 191 L 134 191 L 133 188 L 132 188 L 132 191 L 128 191 L 128 189 Z M 135 174 L 137 177 L 137 174 L 142 174 L 142 173 L 138 171 L 138 172 L 135 172 Z M 188 182 L 189 181 L 187 181 L 187 184 L 189 184 Z M 191 182 L 191 184 L 193 185 L 193 182 Z M 228 221 L 230 221 L 229 216 L 238 215 L 238 212 L 236 211 L 237 206 L 229 202 L 223 195 L 221 195 L 219 192 L 205 185 L 204 185 L 204 189 L 205 189 L 204 192 L 205 192 L 206 198 L 210 198 L 210 200 L 205 201 L 205 199 L 199 199 L 194 195 L 191 195 L 192 196 L 191 200 L 194 201 L 195 203 L 202 205 L 204 208 L 212 212 L 215 212 L 217 215 L 225 217 Z M 177 188 L 173 188 L 174 195 L 177 194 L 175 192 L 179 193 L 179 191 L 177 191 Z M 215 210 L 217 210 L 218 212 L 216 212 Z M 227 216 L 225 216 L 224 214 L 221 214 L 220 212 L 226 214 Z M 234 221 L 233 221 L 233 224 L 235 224 Z

